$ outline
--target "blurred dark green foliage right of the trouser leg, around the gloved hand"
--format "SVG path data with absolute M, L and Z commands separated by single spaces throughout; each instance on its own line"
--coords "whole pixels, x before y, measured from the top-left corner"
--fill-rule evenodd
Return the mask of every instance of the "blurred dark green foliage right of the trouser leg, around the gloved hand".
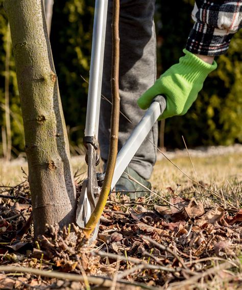
M 177 1 L 176 6 L 160 1 L 158 7 L 158 71 L 178 62 L 192 27 L 192 0 Z M 217 69 L 204 83 L 195 104 L 184 116 L 165 122 L 166 147 L 229 145 L 242 141 L 242 31 L 237 32 L 226 55 L 216 57 Z

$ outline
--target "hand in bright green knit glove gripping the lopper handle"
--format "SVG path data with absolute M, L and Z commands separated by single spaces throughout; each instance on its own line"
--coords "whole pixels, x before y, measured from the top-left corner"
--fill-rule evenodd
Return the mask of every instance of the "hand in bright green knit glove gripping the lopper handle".
M 164 94 L 166 108 L 159 120 L 184 115 L 197 99 L 209 72 L 217 67 L 215 61 L 209 64 L 187 50 L 183 52 L 185 56 L 180 58 L 179 63 L 167 69 L 137 101 L 141 109 L 148 109 L 156 95 Z

